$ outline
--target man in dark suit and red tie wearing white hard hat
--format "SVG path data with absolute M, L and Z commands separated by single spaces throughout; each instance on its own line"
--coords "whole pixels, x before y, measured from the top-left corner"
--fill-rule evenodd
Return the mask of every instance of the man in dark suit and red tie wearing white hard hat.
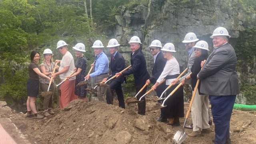
M 114 38 L 108 42 L 107 48 L 109 48 L 109 51 L 111 54 L 111 57 L 110 57 L 111 75 L 108 76 L 107 78 L 104 78 L 103 79 L 104 82 L 106 82 L 108 79 L 115 76 L 116 73 L 125 69 L 124 56 L 122 56 L 122 54 L 118 52 L 118 46 L 120 46 L 120 44 Z M 119 102 L 119 107 L 125 109 L 124 94 L 122 90 L 122 83 L 124 83 L 125 79 L 126 79 L 125 76 L 121 76 L 111 80 L 106 92 L 107 104 L 113 104 L 113 100 L 114 100 L 113 91 L 115 90 L 118 98 L 118 102 Z

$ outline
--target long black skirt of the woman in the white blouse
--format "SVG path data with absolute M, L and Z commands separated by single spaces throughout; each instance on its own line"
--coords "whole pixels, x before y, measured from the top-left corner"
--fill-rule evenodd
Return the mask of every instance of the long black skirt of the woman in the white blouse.
M 166 91 L 166 97 L 178 86 L 178 84 L 173 85 Z M 168 86 L 166 85 L 166 88 Z M 172 96 L 170 96 L 166 101 L 166 117 L 167 118 L 183 118 L 184 117 L 184 98 L 183 98 L 183 86 L 180 86 Z

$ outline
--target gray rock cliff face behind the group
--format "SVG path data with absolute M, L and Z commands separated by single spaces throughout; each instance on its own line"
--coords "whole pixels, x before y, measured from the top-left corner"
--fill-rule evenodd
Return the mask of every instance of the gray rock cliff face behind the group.
M 190 5 L 174 4 L 173 1 L 166 0 L 160 10 L 158 8 L 160 5 L 155 0 L 149 1 L 148 6 L 140 4 L 133 10 L 123 6 L 120 16 L 116 16 L 114 35 L 121 44 L 119 50 L 127 62 L 130 61 L 131 50 L 128 44 L 130 38 L 138 36 L 143 41 L 140 48 L 144 52 L 150 75 L 152 75 L 154 58 L 148 46 L 153 40 L 160 40 L 162 46 L 168 42 L 174 44 L 176 50 L 174 56 L 182 72 L 188 63 L 188 51 L 182 40 L 188 32 L 194 32 L 199 40 L 208 42 L 209 50 L 212 52 L 213 44 L 210 36 L 217 27 L 222 26 L 228 30 L 232 36 L 230 44 L 235 48 L 235 41 L 240 32 L 256 25 L 256 14 L 246 12 L 240 0 L 201 0 Z M 238 74 L 241 75 L 243 74 Z M 241 86 L 241 80 L 244 78 L 239 77 L 239 80 Z M 255 84 L 254 79 L 251 82 Z M 187 100 L 187 96 L 191 96 L 191 88 L 187 85 L 184 92 L 186 94 L 184 100 Z M 240 95 L 237 101 L 244 102 L 244 97 Z

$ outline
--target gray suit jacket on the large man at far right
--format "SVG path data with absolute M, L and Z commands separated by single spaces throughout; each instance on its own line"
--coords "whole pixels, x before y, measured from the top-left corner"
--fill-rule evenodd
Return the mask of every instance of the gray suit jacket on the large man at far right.
M 201 80 L 200 92 L 213 96 L 229 96 L 239 94 L 236 74 L 236 53 L 226 43 L 216 49 L 198 73 Z

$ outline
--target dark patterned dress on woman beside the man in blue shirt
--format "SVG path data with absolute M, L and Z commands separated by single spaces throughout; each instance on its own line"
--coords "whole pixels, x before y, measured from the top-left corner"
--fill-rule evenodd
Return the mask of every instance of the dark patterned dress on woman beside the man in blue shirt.
M 76 86 L 79 82 L 84 81 L 84 77 L 86 76 L 86 66 L 87 62 L 84 55 L 81 58 L 77 58 L 76 71 L 78 70 L 78 68 L 82 69 L 82 71 L 78 75 L 76 75 L 75 95 L 77 96 L 87 96 L 87 90 L 85 90 L 87 86 Z

